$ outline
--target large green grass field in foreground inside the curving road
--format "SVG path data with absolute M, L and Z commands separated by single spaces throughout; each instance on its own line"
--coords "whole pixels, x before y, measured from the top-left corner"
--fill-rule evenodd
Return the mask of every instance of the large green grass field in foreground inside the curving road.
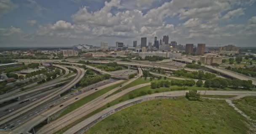
M 246 119 L 222 100 L 154 100 L 112 114 L 85 134 L 248 134 Z

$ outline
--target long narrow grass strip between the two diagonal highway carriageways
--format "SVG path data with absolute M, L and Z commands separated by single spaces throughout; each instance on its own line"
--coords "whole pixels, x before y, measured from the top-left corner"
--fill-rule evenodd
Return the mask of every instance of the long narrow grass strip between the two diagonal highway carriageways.
M 71 105 L 69 105 L 63 112 L 61 112 L 61 114 L 59 115 L 58 118 L 74 111 L 75 109 L 85 105 L 86 103 L 94 100 L 95 98 L 98 98 L 99 96 L 107 93 L 108 91 L 114 89 L 114 88 L 117 88 L 119 87 L 120 85 L 122 85 L 123 83 L 125 83 L 126 81 L 123 81 L 123 82 L 120 82 L 120 83 L 117 83 L 115 85 L 111 85 L 107 88 L 104 88 L 104 89 L 101 89 L 95 93 L 92 93 L 91 95 L 88 95 L 88 96 L 85 96 L 84 98 L 80 99 L 79 101 L 76 101 L 75 103 L 72 103 Z

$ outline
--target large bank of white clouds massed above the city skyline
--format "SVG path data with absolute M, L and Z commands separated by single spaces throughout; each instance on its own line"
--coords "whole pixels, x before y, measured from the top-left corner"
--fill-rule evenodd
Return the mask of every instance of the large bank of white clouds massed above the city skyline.
M 29 1 L 34 3 L 34 0 Z M 95 12 L 87 5 L 71 16 L 71 22 L 59 20 L 39 26 L 36 34 L 27 35 L 26 39 L 42 44 L 50 41 L 55 44 L 99 44 L 104 40 L 113 46 L 115 41 L 131 44 L 133 40 L 140 42 L 141 37 L 153 41 L 155 35 L 158 39 L 169 35 L 171 41 L 179 44 L 204 42 L 214 45 L 229 41 L 250 44 L 252 39 L 248 38 L 256 36 L 253 30 L 256 17 L 244 24 L 227 21 L 245 14 L 245 8 L 255 0 L 171 0 L 153 8 L 158 1 L 110 0 Z M 144 9 L 148 11 L 142 12 Z M 170 23 L 177 18 L 179 24 Z M 220 22 L 228 24 L 222 26 Z

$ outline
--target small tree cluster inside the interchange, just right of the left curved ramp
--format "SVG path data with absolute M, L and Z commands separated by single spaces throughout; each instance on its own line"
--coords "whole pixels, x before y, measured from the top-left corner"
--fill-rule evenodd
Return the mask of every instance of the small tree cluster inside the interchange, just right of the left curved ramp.
M 108 75 L 108 74 L 97 75 L 97 76 L 94 76 L 94 77 L 83 77 L 83 79 L 80 80 L 79 83 L 80 83 L 81 86 L 85 87 L 85 86 L 100 82 L 102 80 L 107 80 L 110 77 L 111 77 L 111 75 Z

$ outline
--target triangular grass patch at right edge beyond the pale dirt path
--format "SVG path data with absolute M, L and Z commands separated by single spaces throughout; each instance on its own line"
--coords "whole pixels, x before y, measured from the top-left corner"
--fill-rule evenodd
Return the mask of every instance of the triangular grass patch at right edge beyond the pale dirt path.
M 256 120 L 256 96 L 246 96 L 234 100 L 233 103 L 246 115 L 250 116 L 253 120 Z

